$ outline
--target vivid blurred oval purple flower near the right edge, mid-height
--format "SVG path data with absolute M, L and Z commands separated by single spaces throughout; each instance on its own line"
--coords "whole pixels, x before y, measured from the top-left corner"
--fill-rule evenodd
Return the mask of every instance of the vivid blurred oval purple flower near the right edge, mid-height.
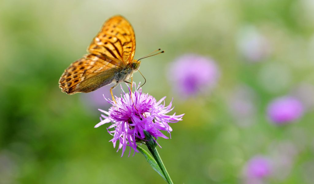
M 267 108 L 268 117 L 277 124 L 297 120 L 303 115 L 302 103 L 292 96 L 284 96 L 270 102 Z

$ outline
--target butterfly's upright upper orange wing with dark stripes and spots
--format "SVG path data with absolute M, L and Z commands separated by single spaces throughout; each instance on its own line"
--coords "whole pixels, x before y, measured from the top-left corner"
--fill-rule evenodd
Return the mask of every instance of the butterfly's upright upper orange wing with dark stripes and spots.
M 91 54 L 116 58 L 124 64 L 132 62 L 135 35 L 131 24 L 119 15 L 110 18 L 90 44 L 88 51 Z

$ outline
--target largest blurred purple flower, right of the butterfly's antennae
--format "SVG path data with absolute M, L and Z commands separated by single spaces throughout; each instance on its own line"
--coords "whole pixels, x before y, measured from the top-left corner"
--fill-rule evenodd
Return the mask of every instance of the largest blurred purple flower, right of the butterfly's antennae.
M 212 59 L 195 54 L 177 58 L 169 70 L 169 79 L 174 89 L 185 96 L 213 88 L 219 75 L 219 69 Z

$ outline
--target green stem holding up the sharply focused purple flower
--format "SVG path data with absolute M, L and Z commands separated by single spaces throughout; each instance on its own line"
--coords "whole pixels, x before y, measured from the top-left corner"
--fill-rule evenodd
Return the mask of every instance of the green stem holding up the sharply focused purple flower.
M 162 162 L 161 158 L 160 158 L 160 155 L 156 149 L 156 142 L 153 138 L 153 136 L 151 136 L 148 132 L 144 131 L 145 135 L 146 135 L 146 138 L 148 138 L 147 141 L 145 141 L 145 144 L 148 148 L 148 150 L 150 151 L 150 153 L 153 155 L 154 159 L 156 160 L 157 164 L 159 165 L 162 173 L 164 174 L 168 184 L 173 184 L 167 170 L 166 170 L 166 167 L 164 165 L 164 163 Z

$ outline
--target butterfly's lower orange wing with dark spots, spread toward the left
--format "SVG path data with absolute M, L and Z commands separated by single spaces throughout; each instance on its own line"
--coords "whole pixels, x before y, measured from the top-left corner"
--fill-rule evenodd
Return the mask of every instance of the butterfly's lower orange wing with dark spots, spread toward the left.
M 70 95 L 94 91 L 112 82 L 119 69 L 116 65 L 117 61 L 109 58 L 86 55 L 65 69 L 59 87 Z

